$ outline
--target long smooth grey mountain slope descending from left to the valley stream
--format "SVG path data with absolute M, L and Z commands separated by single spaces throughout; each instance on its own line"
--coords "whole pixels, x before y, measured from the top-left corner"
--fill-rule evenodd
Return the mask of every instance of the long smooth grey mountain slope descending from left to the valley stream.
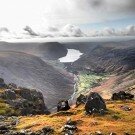
M 69 99 L 73 93 L 71 75 L 23 52 L 0 52 L 0 76 L 6 83 L 41 91 L 48 108 L 56 106 L 61 98 Z

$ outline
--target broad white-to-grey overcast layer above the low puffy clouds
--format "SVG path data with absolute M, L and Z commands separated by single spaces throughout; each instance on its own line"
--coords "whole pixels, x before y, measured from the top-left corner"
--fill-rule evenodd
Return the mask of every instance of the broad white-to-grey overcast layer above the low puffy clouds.
M 135 16 L 135 0 L 0 0 L 0 26 L 102 22 Z

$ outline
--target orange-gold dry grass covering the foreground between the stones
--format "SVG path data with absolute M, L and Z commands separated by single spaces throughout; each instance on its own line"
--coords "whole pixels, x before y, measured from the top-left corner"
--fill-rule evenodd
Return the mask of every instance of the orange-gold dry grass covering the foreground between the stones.
M 65 124 L 68 117 L 72 120 L 77 121 L 78 135 L 87 135 L 91 132 L 102 131 L 104 134 L 110 132 L 116 132 L 118 135 L 122 135 L 124 132 L 135 133 L 135 102 L 112 102 L 106 101 L 108 114 L 105 116 L 97 115 L 85 115 L 84 106 L 72 108 L 67 113 L 56 113 L 50 116 L 37 115 L 31 117 L 20 117 L 20 123 L 16 127 L 20 129 L 30 129 L 37 131 L 42 129 L 44 126 L 51 126 L 56 131 L 56 135 L 60 134 L 61 127 Z M 127 105 L 132 108 L 131 111 L 123 111 L 120 106 Z M 96 124 L 92 124 L 96 121 Z

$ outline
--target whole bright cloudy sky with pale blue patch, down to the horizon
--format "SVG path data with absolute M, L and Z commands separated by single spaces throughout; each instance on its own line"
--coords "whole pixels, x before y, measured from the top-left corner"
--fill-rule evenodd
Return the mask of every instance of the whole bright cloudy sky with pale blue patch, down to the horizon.
M 135 0 L 0 0 L 0 37 L 135 35 Z

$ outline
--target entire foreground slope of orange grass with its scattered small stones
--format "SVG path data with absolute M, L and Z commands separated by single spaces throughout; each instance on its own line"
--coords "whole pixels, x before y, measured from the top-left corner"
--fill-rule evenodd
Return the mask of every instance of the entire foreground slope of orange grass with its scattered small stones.
M 84 105 L 80 105 L 48 116 L 1 117 L 0 132 L 8 135 L 134 135 L 135 102 L 110 100 L 105 103 L 105 115 L 86 115 Z M 6 126 L 13 122 L 14 125 Z

